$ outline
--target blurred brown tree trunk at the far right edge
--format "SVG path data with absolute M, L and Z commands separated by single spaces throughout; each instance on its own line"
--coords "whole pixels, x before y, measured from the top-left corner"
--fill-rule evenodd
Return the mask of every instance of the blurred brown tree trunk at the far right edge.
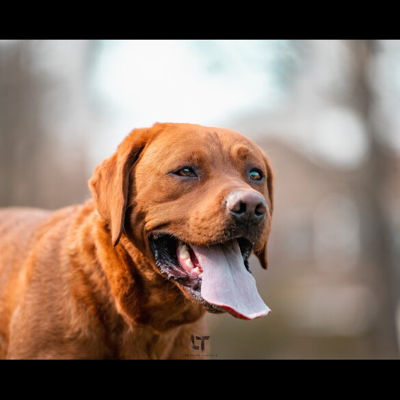
M 358 176 L 360 193 L 364 198 L 364 249 L 375 266 L 375 284 L 380 299 L 374 337 L 376 351 L 382 358 L 399 357 L 396 329 L 398 276 L 395 274 L 392 240 L 388 214 L 385 212 L 386 187 L 392 178 L 390 165 L 393 153 L 380 139 L 375 111 L 377 98 L 371 85 L 371 68 L 379 43 L 371 40 L 352 40 L 348 43 L 353 64 L 353 83 L 349 93 L 349 107 L 354 107 L 366 128 L 369 155 Z

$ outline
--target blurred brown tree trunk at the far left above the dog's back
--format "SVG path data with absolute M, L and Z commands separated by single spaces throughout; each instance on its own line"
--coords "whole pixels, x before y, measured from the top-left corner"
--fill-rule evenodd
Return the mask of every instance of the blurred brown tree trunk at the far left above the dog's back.
M 41 93 L 30 68 L 29 42 L 0 44 L 0 204 L 40 204 L 36 168 L 44 142 Z

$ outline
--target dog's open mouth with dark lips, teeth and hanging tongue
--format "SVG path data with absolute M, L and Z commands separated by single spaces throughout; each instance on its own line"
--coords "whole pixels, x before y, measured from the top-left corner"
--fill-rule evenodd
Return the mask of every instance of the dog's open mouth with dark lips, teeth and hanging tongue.
M 209 312 L 226 311 L 241 319 L 268 314 L 249 269 L 252 243 L 244 237 L 204 246 L 158 234 L 150 236 L 150 245 L 161 273 Z

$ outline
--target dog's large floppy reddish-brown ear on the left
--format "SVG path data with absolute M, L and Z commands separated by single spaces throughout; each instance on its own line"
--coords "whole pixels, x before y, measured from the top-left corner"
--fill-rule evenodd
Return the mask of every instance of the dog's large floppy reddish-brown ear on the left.
M 114 246 L 118 245 L 124 229 L 131 170 L 146 141 L 146 130 L 132 131 L 118 146 L 114 155 L 97 165 L 89 180 L 98 213 L 109 225 L 111 243 Z

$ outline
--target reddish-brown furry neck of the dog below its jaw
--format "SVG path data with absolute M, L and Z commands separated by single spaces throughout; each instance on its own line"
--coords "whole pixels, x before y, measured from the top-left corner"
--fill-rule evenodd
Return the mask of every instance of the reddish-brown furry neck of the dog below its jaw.
M 193 323 L 204 308 L 188 302 L 173 283 L 161 276 L 150 261 L 127 237 L 113 248 L 105 221 L 95 213 L 94 245 L 101 269 L 109 284 L 116 310 L 131 328 L 141 325 L 157 334 Z

